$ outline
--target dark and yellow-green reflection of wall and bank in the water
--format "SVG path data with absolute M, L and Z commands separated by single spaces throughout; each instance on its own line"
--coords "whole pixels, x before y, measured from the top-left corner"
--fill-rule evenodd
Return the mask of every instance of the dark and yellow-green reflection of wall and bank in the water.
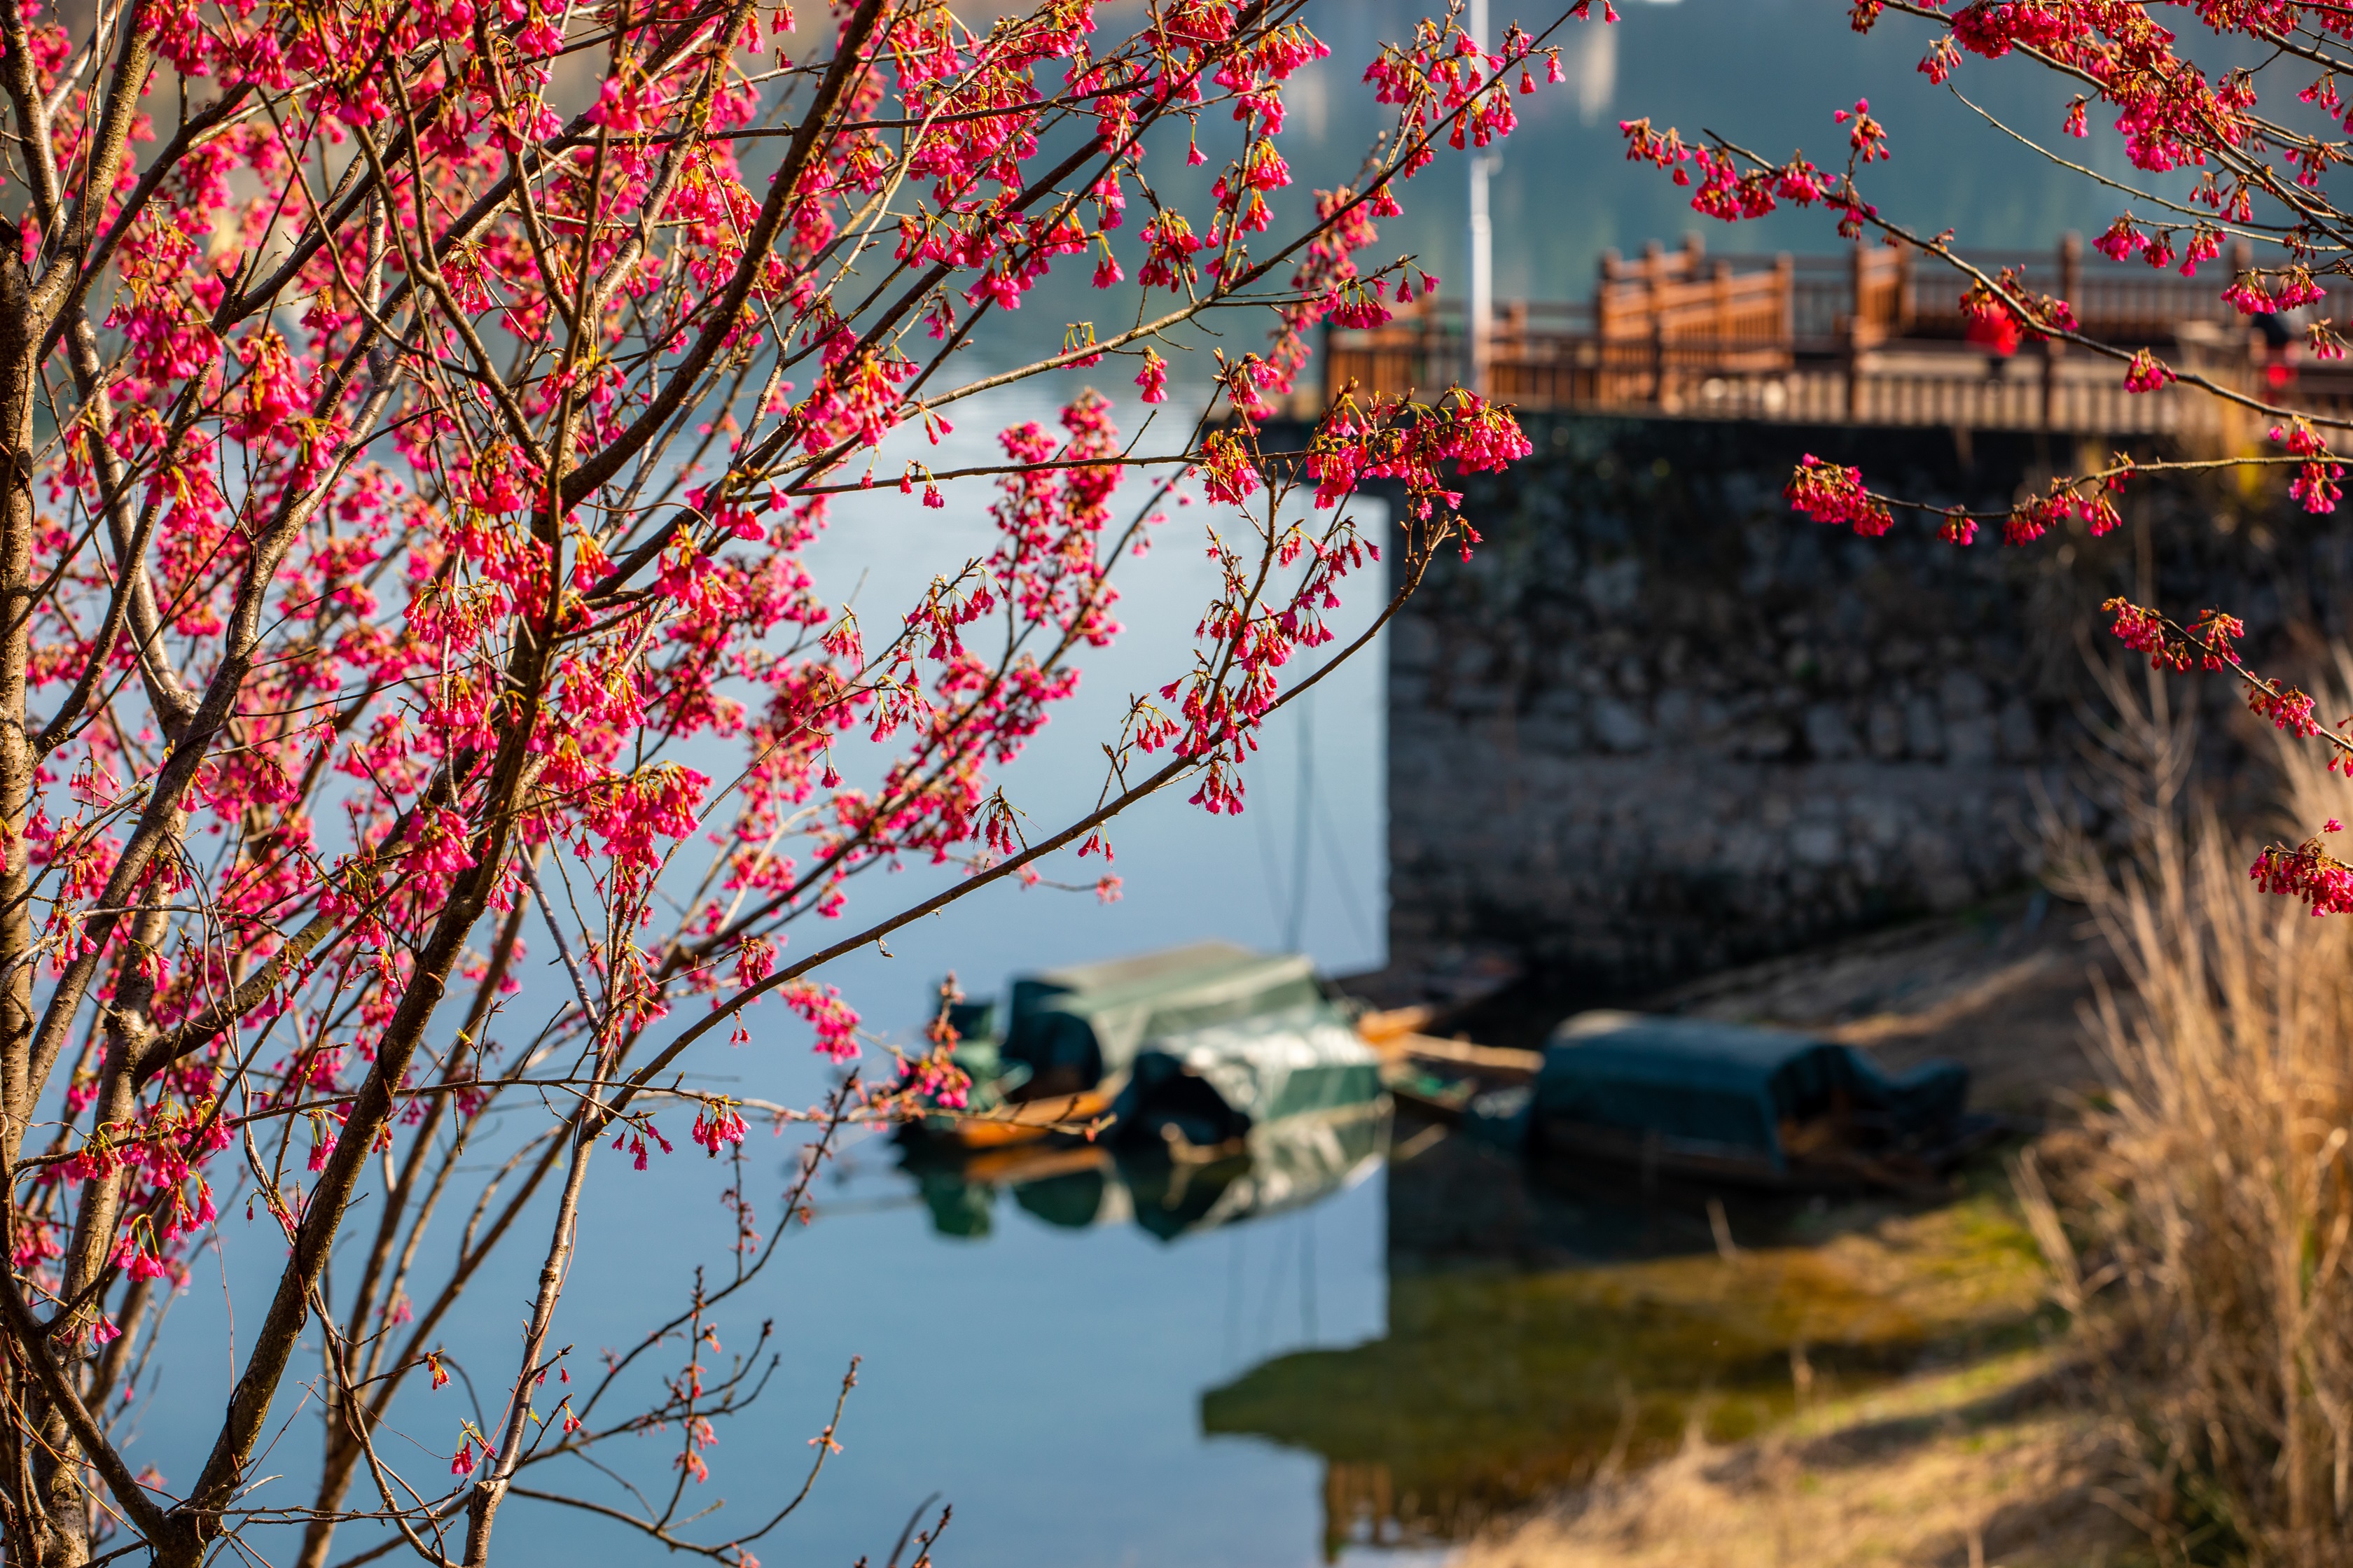
M 1388 1173 L 1388 1333 L 1275 1356 L 1202 1394 L 1200 1420 L 1325 1460 L 1327 1561 L 1442 1544 L 1692 1432 L 1739 1441 L 1932 1349 L 2031 1335 L 2035 1293 L 1991 1199 L 1645 1192 L 1409 1135 Z

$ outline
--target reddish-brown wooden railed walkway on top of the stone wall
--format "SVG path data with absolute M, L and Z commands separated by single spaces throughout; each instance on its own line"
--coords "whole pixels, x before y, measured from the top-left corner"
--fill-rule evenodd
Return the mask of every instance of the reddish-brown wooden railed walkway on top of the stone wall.
M 1965 254 L 2068 301 L 2087 336 L 2151 348 L 2282 411 L 2353 411 L 2353 369 L 2313 362 L 2301 327 L 2299 341 L 2268 343 L 2224 303 L 2226 280 L 2252 266 L 2242 247 L 2224 259 L 2231 270 L 2209 263 L 2198 280 L 2087 256 L 2078 235 L 2042 254 Z M 1588 301 L 1497 310 L 1485 383 L 1522 409 L 2169 435 L 2224 449 L 2261 435 L 2261 414 L 2179 388 L 2127 393 L 2120 364 L 2064 343 L 1993 355 L 1965 336 L 1962 287 L 1960 273 L 1908 247 L 1711 259 L 1697 235 L 1675 252 L 1652 242 L 1640 261 L 1607 252 Z M 1329 329 L 1320 397 L 1351 383 L 1431 395 L 1466 364 L 1461 308 L 1417 303 L 1384 327 Z

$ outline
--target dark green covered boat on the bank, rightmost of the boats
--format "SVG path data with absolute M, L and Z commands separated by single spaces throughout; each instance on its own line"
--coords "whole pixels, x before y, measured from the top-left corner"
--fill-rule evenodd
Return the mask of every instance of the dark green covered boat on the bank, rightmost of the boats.
M 1904 1077 L 1809 1034 L 1706 1018 L 1579 1013 L 1544 1051 L 1529 1138 L 1546 1152 L 1758 1185 L 1929 1175 L 1955 1145 L 1969 1072 Z

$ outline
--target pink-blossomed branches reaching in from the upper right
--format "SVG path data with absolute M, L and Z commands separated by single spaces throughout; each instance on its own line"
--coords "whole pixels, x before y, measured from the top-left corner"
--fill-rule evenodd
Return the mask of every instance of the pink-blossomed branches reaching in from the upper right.
M 1574 5 L 1586 14 L 1591 0 Z M 1609 5 L 1605 0 L 1605 12 Z M 2332 301 L 2327 280 L 2353 277 L 2353 212 L 2337 205 L 2334 165 L 2353 162 L 2353 7 L 2329 0 L 1849 0 L 1857 33 L 1918 26 L 1920 75 L 1944 87 L 1986 68 L 2040 71 L 2054 89 L 2054 125 L 2014 127 L 1974 101 L 1991 136 L 2024 143 L 2082 179 L 2085 197 L 2111 207 L 2094 247 L 2111 261 L 2207 275 L 2219 299 L 2249 322 L 2297 320 L 2313 362 L 2346 357 L 2346 324 L 2315 308 Z M 2188 38 L 2184 38 L 2188 33 Z M 1993 66 L 2000 61 L 2000 66 Z M 1953 87 L 1960 94 L 1960 87 Z M 2344 498 L 2346 465 L 2332 442 L 2346 440 L 2353 418 L 2337 400 L 2329 409 L 2297 409 L 2294 395 L 2266 395 L 2231 376 L 2169 364 L 2146 346 L 2106 343 L 2075 320 L 2071 301 L 2026 287 L 2014 270 L 1986 273 L 1960 254 L 1965 237 L 1951 228 L 1922 233 L 1880 214 L 1871 200 L 1897 155 L 1899 136 L 1873 115 L 1871 101 L 1828 113 L 1838 127 L 1842 165 L 1812 162 L 1802 150 L 1786 160 L 1760 155 L 1729 134 L 1685 139 L 1649 120 L 1624 120 L 1626 155 L 1673 174 L 1692 188 L 1692 209 L 1727 223 L 1765 216 L 1784 205 L 1821 209 L 1838 233 L 1859 242 L 1911 244 L 1946 263 L 1960 287 L 1960 310 L 1972 341 L 2002 346 L 2024 339 L 2066 343 L 2108 360 L 2129 393 L 2193 393 L 2238 404 L 2268 430 L 2268 451 L 2224 456 L 2134 458 L 2059 475 L 2045 494 L 2002 512 L 1937 508 L 1873 489 L 1861 468 L 1805 458 L 1791 475 L 1791 505 L 1814 522 L 1880 536 L 1901 512 L 1922 515 L 1939 538 L 1972 545 L 1979 529 L 1998 527 L 2005 545 L 2033 545 L 2052 529 L 2078 527 L 2101 536 L 2122 522 L 2118 496 L 2148 475 L 2226 468 L 2282 468 L 2287 494 L 2308 512 L 2334 512 Z M 2111 125 L 2132 165 L 2129 179 L 2085 167 L 2064 148 L 2068 139 Z M 2247 268 L 2217 268 L 2226 242 L 2245 242 Z M 2339 287 L 2337 299 L 2346 299 Z M 2111 599 L 2115 637 L 2146 654 L 2155 670 L 2233 675 L 2247 705 L 2278 729 L 2315 738 L 2332 766 L 2353 776 L 2353 719 L 2325 724 L 2313 698 L 2285 679 L 2249 668 L 2238 651 L 2245 625 L 2228 609 L 2167 614 Z M 2353 863 L 2327 849 L 2341 832 L 2332 818 L 2299 846 L 2275 844 L 2252 867 L 2266 889 L 2304 898 L 2315 914 L 2353 912 Z

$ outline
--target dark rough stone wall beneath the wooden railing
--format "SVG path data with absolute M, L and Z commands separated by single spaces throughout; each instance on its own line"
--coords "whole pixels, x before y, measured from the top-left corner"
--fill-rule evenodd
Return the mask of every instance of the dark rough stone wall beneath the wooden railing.
M 2111 592 L 2221 604 L 2308 668 L 2339 630 L 2348 531 L 2257 489 L 2148 484 L 2104 541 L 1878 541 L 1793 515 L 1802 451 L 1882 489 L 2007 505 L 2035 437 L 1537 418 L 1539 451 L 1466 496 L 1388 649 L 1391 964 L 1506 954 L 1633 992 L 1965 907 L 2038 865 L 2071 797 L 2085 649 Z M 2202 701 L 2214 788 L 2247 717 Z

